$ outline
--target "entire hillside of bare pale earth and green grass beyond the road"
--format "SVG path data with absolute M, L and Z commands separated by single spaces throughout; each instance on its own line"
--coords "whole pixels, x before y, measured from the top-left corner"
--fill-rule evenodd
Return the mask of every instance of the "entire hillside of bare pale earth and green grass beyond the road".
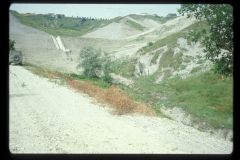
M 15 17 L 18 20 L 10 21 L 10 39 L 16 41 L 16 49 L 23 51 L 24 62 L 81 75 L 82 70 L 76 66 L 81 61 L 78 56 L 82 47 L 101 48 L 111 53 L 115 64 L 112 72 L 134 82 L 133 88 L 117 84 L 122 90 L 132 93 L 135 99 L 148 104 L 159 115 L 225 139 L 231 138 L 233 79 L 222 80 L 221 75 L 213 74 L 210 71 L 213 64 L 205 59 L 203 45 L 187 40 L 190 30 L 208 30 L 206 22 L 199 25 L 186 16 L 156 19 L 128 15 L 101 24 L 86 20 L 86 26 L 82 25 L 85 30 L 81 27 L 74 30 L 58 28 L 61 23 L 63 26 L 74 24 L 74 18 L 58 20 L 53 29 L 51 25 L 42 27 L 36 19 L 17 14 Z M 39 22 L 41 18 L 44 16 Z M 31 23 L 38 31 L 45 31 L 45 35 L 23 27 Z M 14 29 L 14 25 L 23 26 Z M 72 53 L 66 55 L 54 48 L 51 35 L 60 35 L 65 48 Z

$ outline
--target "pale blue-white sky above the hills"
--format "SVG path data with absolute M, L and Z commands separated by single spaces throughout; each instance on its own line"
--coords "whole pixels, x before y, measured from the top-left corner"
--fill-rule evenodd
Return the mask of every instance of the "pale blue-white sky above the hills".
M 166 16 L 176 13 L 180 4 L 27 4 L 13 3 L 10 10 L 18 13 L 65 14 L 67 17 L 92 17 L 112 19 L 129 14 L 148 13 Z

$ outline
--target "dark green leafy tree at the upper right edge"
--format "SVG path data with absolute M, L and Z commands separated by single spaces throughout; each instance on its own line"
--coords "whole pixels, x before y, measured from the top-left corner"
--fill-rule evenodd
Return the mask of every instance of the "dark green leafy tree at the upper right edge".
M 214 73 L 233 76 L 233 7 L 229 4 L 183 4 L 178 12 L 182 16 L 186 13 L 187 18 L 208 22 L 209 33 L 205 29 L 192 31 L 189 38 L 205 46 L 203 52 L 215 64 Z

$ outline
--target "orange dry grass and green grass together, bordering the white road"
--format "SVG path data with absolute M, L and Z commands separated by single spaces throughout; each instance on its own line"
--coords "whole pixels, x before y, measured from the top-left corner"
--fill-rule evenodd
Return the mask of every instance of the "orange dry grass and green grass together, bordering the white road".
M 23 66 L 51 82 L 69 85 L 95 97 L 102 106 L 114 107 L 113 113 L 117 115 L 138 113 L 167 117 L 160 111 L 163 104 L 170 108 L 181 107 L 192 115 L 194 123 L 205 122 L 214 129 L 233 128 L 233 79 L 222 80 L 220 74 L 212 71 L 194 74 L 186 79 L 165 79 L 160 84 L 152 83 L 154 75 L 131 77 L 134 87 L 129 88 L 85 75 L 53 72 L 31 64 Z M 119 71 L 125 65 L 120 66 L 117 67 Z

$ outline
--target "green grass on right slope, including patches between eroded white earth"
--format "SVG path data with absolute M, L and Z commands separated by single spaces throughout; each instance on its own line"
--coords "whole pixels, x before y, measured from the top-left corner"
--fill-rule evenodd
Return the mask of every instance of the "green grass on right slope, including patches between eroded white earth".
M 180 48 L 179 52 L 173 56 L 173 49 L 179 47 L 177 39 L 188 38 L 187 32 L 193 30 L 196 32 L 206 30 L 209 34 L 209 26 L 206 21 L 194 23 L 186 27 L 180 32 L 167 36 L 164 39 L 155 43 L 148 43 L 147 46 L 141 48 L 140 54 L 147 54 L 164 45 L 167 45 L 168 50 L 164 52 L 160 59 L 159 69 L 151 76 L 147 77 L 131 77 L 134 72 L 134 67 L 128 75 L 123 75 L 131 78 L 135 82 L 134 88 L 127 88 L 124 85 L 120 87 L 126 92 L 133 92 L 133 97 L 136 100 L 142 101 L 147 105 L 151 105 L 155 112 L 161 115 L 161 105 L 167 108 L 181 107 L 187 114 L 191 114 L 194 123 L 205 122 L 208 127 L 214 129 L 232 129 L 233 127 L 233 78 L 222 78 L 221 74 L 214 74 L 212 70 L 199 72 L 203 66 L 198 66 L 192 69 L 192 76 L 181 79 L 179 76 L 170 78 L 173 70 L 183 70 L 186 65 L 182 63 L 190 63 L 196 61 L 197 64 L 203 64 L 205 59 L 197 56 L 198 60 L 194 60 L 192 56 L 183 56 L 185 48 Z M 188 44 L 191 41 L 188 39 Z M 153 53 L 152 63 L 156 62 L 161 50 Z M 133 64 L 134 61 L 132 60 Z M 127 63 L 130 65 L 130 62 Z M 213 66 L 212 66 L 213 67 Z M 162 71 L 162 69 L 164 69 Z M 164 74 L 162 82 L 155 84 L 156 77 Z

